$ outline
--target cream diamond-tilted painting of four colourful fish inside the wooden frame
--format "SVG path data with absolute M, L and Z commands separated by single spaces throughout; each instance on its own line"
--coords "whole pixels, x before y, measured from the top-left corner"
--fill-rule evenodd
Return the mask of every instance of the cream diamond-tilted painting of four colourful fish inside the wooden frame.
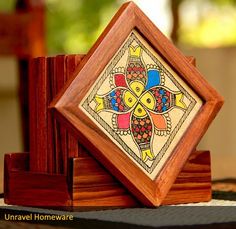
M 154 179 L 201 105 L 189 86 L 132 31 L 79 106 Z

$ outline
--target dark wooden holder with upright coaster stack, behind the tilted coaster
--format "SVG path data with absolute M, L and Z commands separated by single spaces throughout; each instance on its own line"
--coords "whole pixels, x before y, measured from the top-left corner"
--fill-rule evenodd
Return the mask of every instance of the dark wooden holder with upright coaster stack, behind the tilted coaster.
M 5 203 L 75 209 L 142 206 L 48 108 L 82 58 L 61 55 L 32 60 L 31 148 L 30 153 L 5 155 Z M 189 60 L 195 62 L 194 58 Z M 162 205 L 210 199 L 210 152 L 193 151 Z

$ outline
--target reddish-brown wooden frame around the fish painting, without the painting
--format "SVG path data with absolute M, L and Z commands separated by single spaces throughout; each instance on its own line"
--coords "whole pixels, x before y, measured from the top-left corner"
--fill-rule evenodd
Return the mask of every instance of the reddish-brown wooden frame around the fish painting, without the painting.
M 155 180 L 151 180 L 131 160 L 127 160 L 127 156 L 77 106 L 134 28 L 204 101 Z M 114 16 L 76 69 L 73 79 L 67 83 L 51 107 L 55 109 L 60 121 L 77 134 L 81 144 L 86 146 L 133 195 L 147 206 L 159 206 L 222 104 L 223 98 L 197 69 L 133 2 L 129 2 Z M 137 177 L 139 179 L 136 179 Z

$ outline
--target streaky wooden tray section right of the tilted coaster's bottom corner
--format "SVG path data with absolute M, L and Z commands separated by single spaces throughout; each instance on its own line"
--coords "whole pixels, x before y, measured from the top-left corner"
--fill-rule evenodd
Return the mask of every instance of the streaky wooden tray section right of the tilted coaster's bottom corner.
M 209 151 L 195 151 L 177 176 L 162 205 L 206 202 L 212 198 Z

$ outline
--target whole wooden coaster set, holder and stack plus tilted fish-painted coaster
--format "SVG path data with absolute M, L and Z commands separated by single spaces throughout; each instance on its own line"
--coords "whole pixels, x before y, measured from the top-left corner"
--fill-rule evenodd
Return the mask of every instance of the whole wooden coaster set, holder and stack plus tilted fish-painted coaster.
M 33 59 L 30 152 L 5 155 L 5 202 L 209 201 L 210 153 L 195 149 L 223 99 L 194 64 L 132 2 L 87 55 Z

